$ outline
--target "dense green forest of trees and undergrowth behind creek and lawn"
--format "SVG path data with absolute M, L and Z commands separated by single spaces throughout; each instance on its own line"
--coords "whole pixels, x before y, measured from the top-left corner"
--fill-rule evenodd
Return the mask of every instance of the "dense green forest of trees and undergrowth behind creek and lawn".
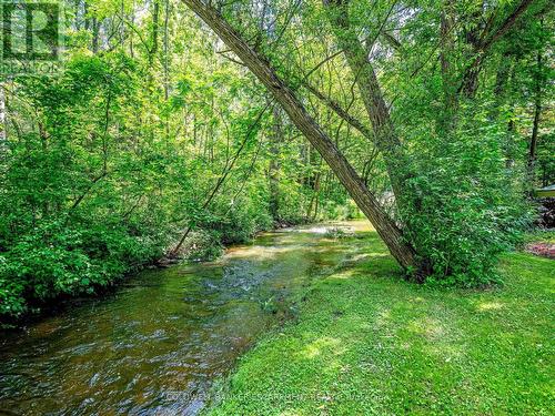
M 0 84 L 0 315 L 361 215 L 408 280 L 498 282 L 555 181 L 552 6 L 64 2 L 58 70 Z

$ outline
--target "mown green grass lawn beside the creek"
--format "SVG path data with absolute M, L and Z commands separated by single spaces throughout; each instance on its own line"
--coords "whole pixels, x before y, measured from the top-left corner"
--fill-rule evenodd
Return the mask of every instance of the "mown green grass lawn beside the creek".
M 549 415 L 555 262 L 502 258 L 505 284 L 436 290 L 401 280 L 375 234 L 314 283 L 293 322 L 220 386 L 213 415 Z

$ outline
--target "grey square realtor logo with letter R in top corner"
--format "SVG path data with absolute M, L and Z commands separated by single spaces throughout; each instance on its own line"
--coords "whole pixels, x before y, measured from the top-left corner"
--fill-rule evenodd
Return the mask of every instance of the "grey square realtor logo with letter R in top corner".
M 60 57 L 60 6 L 3 1 L 2 73 L 51 72 Z

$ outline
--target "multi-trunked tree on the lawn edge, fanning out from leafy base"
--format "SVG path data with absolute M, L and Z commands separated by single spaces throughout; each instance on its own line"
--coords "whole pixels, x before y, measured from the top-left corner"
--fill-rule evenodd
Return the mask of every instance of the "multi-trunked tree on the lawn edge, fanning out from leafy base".
M 482 278 L 480 276 L 483 276 L 487 281 L 488 277 L 485 277 L 485 275 L 487 275 L 488 270 L 492 270 L 493 265 L 487 257 L 495 257 L 494 255 L 488 254 L 482 260 L 475 261 L 470 254 L 471 252 L 463 252 L 457 248 L 456 245 L 458 243 L 444 248 L 442 244 L 445 245 L 445 243 L 440 243 L 440 241 L 443 241 L 442 239 L 434 241 L 432 236 L 433 229 L 430 230 L 430 224 L 435 224 L 434 226 L 444 229 L 445 235 L 443 235 L 443 239 L 445 241 L 456 241 L 461 244 L 463 244 L 463 241 L 472 241 L 472 250 L 481 250 L 481 246 L 484 247 L 484 240 L 478 234 L 482 232 L 487 233 L 487 204 L 493 204 L 494 210 L 504 210 L 503 205 L 505 203 L 513 203 L 508 199 L 507 201 L 502 201 L 494 200 L 487 195 L 482 196 L 481 193 L 487 194 L 491 191 L 480 187 L 472 191 L 472 196 L 464 200 L 462 212 L 465 212 L 465 214 L 457 220 L 460 223 L 442 224 L 442 216 L 446 214 L 443 209 L 451 205 L 451 201 L 445 204 L 446 195 L 441 194 L 442 191 L 444 193 L 467 193 L 470 190 L 468 186 L 471 186 L 471 182 L 466 183 L 471 176 L 470 166 L 476 166 L 476 163 L 488 163 L 491 166 L 488 171 L 475 171 L 476 174 L 483 176 L 477 181 L 488 183 L 488 186 L 495 186 L 494 182 L 496 180 L 494 177 L 498 177 L 497 172 L 504 169 L 501 164 L 494 162 L 497 150 L 491 153 L 474 153 L 470 160 L 465 155 L 466 153 L 473 153 L 472 146 L 474 144 L 472 143 L 477 139 L 474 132 L 468 134 L 468 131 L 476 131 L 476 129 L 481 129 L 481 125 L 483 125 L 477 120 L 477 114 L 472 114 L 470 109 L 473 105 L 482 105 L 483 99 L 482 97 L 477 97 L 478 78 L 483 72 L 488 55 L 494 53 L 492 51 L 495 51 L 496 44 L 507 33 L 511 33 L 514 28 L 522 30 L 518 22 L 525 16 L 529 18 L 532 6 L 535 6 L 535 8 L 532 8 L 533 12 L 543 10 L 544 6 L 542 3 L 534 4 L 533 1 L 523 0 L 516 6 L 505 7 L 501 4 L 497 8 L 488 8 L 486 10 L 475 8 L 471 3 L 467 4 L 470 9 L 465 9 L 466 4 L 458 7 L 448 1 L 442 1 L 438 4 L 434 3 L 430 6 L 430 9 L 426 9 L 426 7 L 412 7 L 411 4 L 403 7 L 402 4 L 397 4 L 397 2 L 376 2 L 377 7 L 374 10 L 365 7 L 367 4 L 364 0 L 324 0 L 323 13 L 313 3 L 305 6 L 306 10 L 303 10 L 303 19 L 305 16 L 313 14 L 315 16 L 313 18 L 315 24 L 317 24 L 319 19 L 322 17 L 325 17 L 330 23 L 336 45 L 343 52 L 347 68 L 351 70 L 351 79 L 354 80 L 353 82 L 359 89 L 357 97 L 353 93 L 353 101 L 360 98 L 372 125 L 372 133 L 369 133 L 364 124 L 356 116 L 352 115 L 350 111 L 345 111 L 340 103 L 320 92 L 309 80 L 309 75 L 313 74 L 324 63 L 327 65 L 332 59 L 335 59 L 337 55 L 341 57 L 341 54 L 329 54 L 313 70 L 301 77 L 295 74 L 299 68 L 290 67 L 286 52 L 287 47 L 294 48 L 295 32 L 292 31 L 290 34 L 291 38 L 285 33 L 293 26 L 291 16 L 297 11 L 296 6 L 284 6 L 280 10 L 280 2 L 271 2 L 271 7 L 276 14 L 274 26 L 278 26 L 278 22 L 282 24 L 280 29 L 274 30 L 280 30 L 281 37 L 278 39 L 264 39 L 264 33 L 261 33 L 256 29 L 255 23 L 250 24 L 242 20 L 243 13 L 252 12 L 252 4 L 239 2 L 228 10 L 223 4 L 219 6 L 220 9 L 216 9 L 216 7 L 212 7 L 210 3 L 201 0 L 184 0 L 184 2 L 239 57 L 241 63 L 248 67 L 268 90 L 271 91 L 276 101 L 289 114 L 292 123 L 317 149 L 353 200 L 374 224 L 391 253 L 404 268 L 416 271 L 416 275 L 420 275 L 421 281 L 427 274 L 434 274 L 435 276 L 454 274 L 458 276 L 456 277 L 457 280 L 464 281 L 464 277 L 461 276 L 473 273 L 475 277 L 471 280 L 475 278 L 480 281 Z M 268 7 L 266 3 L 270 2 L 262 3 L 264 9 Z M 302 7 L 299 6 L 299 9 L 302 9 Z M 437 9 L 441 11 L 438 14 Z M 420 38 L 420 34 L 412 38 L 407 37 L 406 41 L 411 42 L 413 48 L 421 48 L 423 52 L 428 53 L 428 57 L 420 63 L 417 61 L 421 57 L 417 53 L 407 55 L 404 52 L 404 60 L 408 60 L 408 62 L 413 60 L 418 64 L 416 69 L 408 72 L 408 78 L 403 79 L 404 74 L 402 72 L 400 77 L 395 74 L 394 69 L 391 70 L 389 68 L 397 65 L 402 71 L 406 71 L 405 68 L 408 64 L 403 62 L 403 60 L 401 60 L 402 64 L 397 64 L 397 62 L 391 60 L 386 54 L 382 54 L 383 58 L 376 59 L 375 63 L 372 61 L 372 54 L 379 40 L 383 40 L 383 44 L 377 48 L 391 47 L 394 49 L 395 54 L 401 53 L 400 51 L 406 51 L 402 41 L 389 32 L 387 28 L 391 26 L 391 21 L 397 26 L 412 24 L 412 29 L 417 28 L 417 30 L 422 29 L 425 31 L 426 26 L 432 26 L 431 21 L 425 20 L 427 19 L 425 12 L 435 12 L 435 16 L 440 16 L 440 19 L 433 22 L 437 28 L 435 31 L 437 41 L 434 45 L 431 44 L 430 40 L 424 40 L 424 35 L 422 38 Z M 283 17 L 282 20 L 280 20 L 280 16 Z M 303 33 L 303 23 L 304 20 L 295 24 L 297 32 Z M 373 28 L 371 28 L 372 23 L 374 23 Z M 322 30 L 321 21 L 320 24 L 319 39 L 322 40 L 322 44 L 326 44 L 330 33 L 325 31 L 326 28 Z M 417 27 L 417 24 L 421 26 Z M 363 40 L 361 40 L 361 33 L 364 33 Z M 255 39 L 255 41 L 250 44 L 246 39 Z M 285 39 L 289 40 L 289 43 L 284 41 Z M 421 44 L 418 44 L 418 40 Z M 377 72 L 390 70 L 391 78 L 396 77 L 401 82 L 413 82 L 416 75 L 418 75 L 417 81 L 422 79 L 421 77 L 431 77 L 435 80 L 433 68 L 428 69 L 428 67 L 431 62 L 433 63 L 433 57 L 437 55 L 437 53 L 442 63 L 442 77 L 438 79 L 441 92 L 438 95 L 443 95 L 443 102 L 446 105 L 437 111 L 437 115 L 431 115 L 428 112 L 426 116 L 436 119 L 437 123 L 435 125 L 438 126 L 437 131 L 428 130 L 430 139 L 437 143 L 444 143 L 444 145 L 443 149 L 441 145 L 436 148 L 434 143 L 428 145 L 427 149 L 425 145 L 423 148 L 424 152 L 428 152 L 425 160 L 435 164 L 436 172 L 434 173 L 435 177 L 433 177 L 427 175 L 423 171 L 423 168 L 420 166 L 418 156 L 414 154 L 414 150 L 417 146 L 407 143 L 406 139 L 401 139 L 402 134 L 407 133 L 403 126 L 405 123 L 400 122 L 398 119 L 394 121 L 391 114 L 392 103 L 386 102 Z M 284 61 L 287 63 L 284 63 Z M 374 67 L 379 69 L 376 70 Z M 424 75 L 418 74 L 418 72 L 423 72 L 424 70 L 428 72 Z M 334 111 L 343 121 L 346 121 L 349 125 L 354 126 L 364 136 L 372 140 L 380 152 L 381 161 L 385 166 L 389 183 L 394 194 L 396 204 L 396 210 L 394 210 L 395 221 L 386 214 L 385 206 L 366 189 L 364 181 L 361 180 L 353 165 L 347 162 L 340 149 L 334 145 L 329 133 L 326 133 L 329 125 L 317 122 L 313 115 L 309 114 L 303 103 L 304 98 L 299 95 L 297 85 L 305 88 L 317 97 L 330 110 Z M 410 87 L 412 88 L 413 85 Z M 432 90 L 431 94 L 427 94 L 426 100 L 433 103 L 434 93 L 434 90 Z M 408 94 L 405 95 L 408 97 Z M 404 100 L 403 92 L 400 91 L 395 99 L 397 101 Z M 403 108 L 403 104 L 397 104 L 396 108 Z M 395 108 L 393 110 L 398 111 Z M 425 134 L 425 132 L 423 133 Z M 497 148 L 498 144 L 500 142 L 494 144 L 494 146 Z M 462 175 L 462 181 L 460 180 L 458 183 L 454 177 L 450 179 L 441 172 L 441 169 L 444 168 L 442 164 L 445 163 L 445 159 L 453 158 L 453 154 L 450 155 L 447 150 L 456 148 L 458 148 L 456 152 L 460 152 L 460 156 L 462 158 L 456 162 L 461 169 L 458 174 Z M 480 160 L 483 160 L 483 162 L 478 162 Z M 495 168 L 493 168 L 494 164 Z M 426 195 L 432 190 L 434 190 L 434 196 Z M 513 191 L 511 191 L 511 195 L 513 194 Z M 457 210 L 454 207 L 455 205 L 453 204 L 452 209 Z M 519 214 L 515 211 L 515 215 Z M 466 225 L 470 225 L 471 217 L 474 217 L 474 222 L 480 224 L 478 227 L 482 230 L 481 232 L 474 232 L 474 236 L 465 232 Z M 507 221 L 513 220 L 507 217 Z M 498 226 L 501 231 L 501 227 L 504 225 L 494 223 L 493 226 Z M 424 232 L 423 230 L 427 231 Z M 505 233 L 501 232 L 498 241 L 493 239 L 490 243 L 485 244 L 488 248 L 484 253 L 493 254 L 501 250 L 504 244 L 502 241 Z M 472 270 L 475 272 L 471 273 L 470 271 Z

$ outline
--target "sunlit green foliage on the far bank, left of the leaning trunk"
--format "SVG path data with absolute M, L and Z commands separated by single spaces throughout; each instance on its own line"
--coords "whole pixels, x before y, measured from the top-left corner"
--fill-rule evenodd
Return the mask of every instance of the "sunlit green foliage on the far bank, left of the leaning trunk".
M 189 229 L 180 255 L 210 258 L 274 224 L 335 216 L 346 201 L 263 90 L 214 57 L 182 7 L 171 4 L 164 19 L 158 11 L 158 40 L 140 43 L 153 33 L 150 8 L 133 23 L 139 34 L 111 48 L 92 27 L 118 24 L 119 9 L 93 6 L 87 14 L 65 9 L 58 73 L 1 84 L 0 315 L 94 293 L 160 258 Z M 327 187 L 315 187 L 324 175 Z

